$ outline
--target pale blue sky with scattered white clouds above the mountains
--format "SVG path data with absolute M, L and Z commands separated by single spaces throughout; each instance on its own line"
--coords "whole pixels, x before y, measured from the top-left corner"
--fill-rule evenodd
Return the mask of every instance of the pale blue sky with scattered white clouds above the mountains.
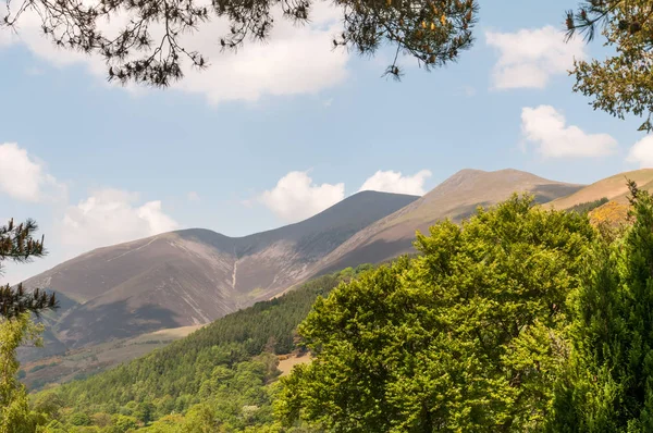
M 223 54 L 220 23 L 187 41 L 209 58 L 169 89 L 108 84 L 101 60 L 54 48 L 29 16 L 0 28 L 0 221 L 35 219 L 48 257 L 16 283 L 97 247 L 205 227 L 243 236 L 364 189 L 422 195 L 461 169 L 513 168 L 589 184 L 653 166 L 653 139 L 574 94 L 564 42 L 574 0 L 481 1 L 476 42 L 402 82 L 332 50 L 337 11 L 276 21 L 268 44 Z

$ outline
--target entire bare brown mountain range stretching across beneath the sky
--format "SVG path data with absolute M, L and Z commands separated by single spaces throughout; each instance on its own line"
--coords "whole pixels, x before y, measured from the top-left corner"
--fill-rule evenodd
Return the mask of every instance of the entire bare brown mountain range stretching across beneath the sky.
M 619 199 L 625 176 L 653 186 L 653 170 L 590 186 L 512 169 L 463 170 L 422 197 L 361 191 L 303 222 L 245 237 L 190 228 L 99 248 L 25 282 L 62 300 L 45 319 L 47 350 L 38 357 L 197 326 L 317 275 L 414 252 L 416 231 L 446 218 L 460 221 L 516 191 L 558 209 Z

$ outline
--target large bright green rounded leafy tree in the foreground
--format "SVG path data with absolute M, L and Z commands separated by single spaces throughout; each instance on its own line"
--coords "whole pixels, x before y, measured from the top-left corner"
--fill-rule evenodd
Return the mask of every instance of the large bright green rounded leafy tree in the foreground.
M 518 196 L 418 234 L 421 256 L 318 299 L 300 325 L 316 359 L 282 380 L 278 413 L 341 432 L 542 428 L 593 237 Z

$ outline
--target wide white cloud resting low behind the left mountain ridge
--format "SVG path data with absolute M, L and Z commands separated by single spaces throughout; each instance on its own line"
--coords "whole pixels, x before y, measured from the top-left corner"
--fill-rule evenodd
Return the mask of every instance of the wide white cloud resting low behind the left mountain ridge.
M 63 216 L 61 242 L 77 252 L 170 232 L 178 224 L 162 208 L 161 201 L 138 205 L 138 194 L 119 189 L 98 189 Z

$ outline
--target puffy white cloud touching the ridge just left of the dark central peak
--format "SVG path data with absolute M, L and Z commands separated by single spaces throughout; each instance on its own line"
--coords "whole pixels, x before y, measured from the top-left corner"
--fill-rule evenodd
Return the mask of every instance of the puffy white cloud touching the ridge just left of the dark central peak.
M 308 172 L 289 172 L 259 200 L 286 222 L 305 220 L 345 198 L 345 184 L 316 185 Z

